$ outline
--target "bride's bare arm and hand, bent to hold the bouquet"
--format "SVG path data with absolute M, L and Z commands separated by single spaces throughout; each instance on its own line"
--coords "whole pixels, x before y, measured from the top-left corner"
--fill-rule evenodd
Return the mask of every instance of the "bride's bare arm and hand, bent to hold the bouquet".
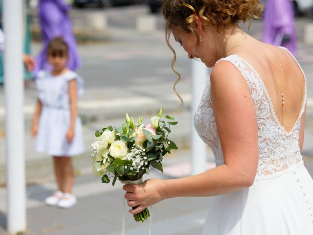
M 214 196 L 253 184 L 259 155 L 255 107 L 246 80 L 227 61 L 219 62 L 211 73 L 211 100 L 224 164 L 185 178 L 124 185 L 128 205 L 138 206 L 131 213 L 167 198 Z

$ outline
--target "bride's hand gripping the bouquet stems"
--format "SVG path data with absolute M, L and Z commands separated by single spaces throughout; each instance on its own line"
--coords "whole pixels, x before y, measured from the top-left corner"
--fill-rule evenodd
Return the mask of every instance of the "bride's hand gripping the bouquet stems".
M 125 198 L 129 207 L 136 207 L 134 210 L 129 210 L 132 214 L 137 214 L 145 208 L 158 203 L 165 199 L 163 190 L 163 180 L 150 179 L 139 185 L 124 185 L 123 189 L 127 191 Z

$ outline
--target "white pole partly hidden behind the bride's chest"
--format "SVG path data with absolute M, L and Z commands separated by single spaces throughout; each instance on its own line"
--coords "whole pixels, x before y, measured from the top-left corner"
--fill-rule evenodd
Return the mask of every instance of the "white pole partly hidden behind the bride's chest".
M 191 166 L 192 174 L 199 174 L 206 170 L 206 145 L 198 136 L 194 128 L 194 115 L 201 101 L 204 88 L 209 81 L 208 68 L 201 62 L 191 61 Z

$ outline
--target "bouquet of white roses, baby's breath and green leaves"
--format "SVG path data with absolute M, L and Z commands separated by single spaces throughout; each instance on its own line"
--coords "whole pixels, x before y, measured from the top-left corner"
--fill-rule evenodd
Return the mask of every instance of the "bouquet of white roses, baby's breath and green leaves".
M 106 127 L 95 132 L 95 141 L 91 144 L 93 174 L 102 176 L 102 183 L 112 185 L 116 180 L 124 184 L 139 184 L 142 176 L 150 173 L 151 166 L 163 172 L 162 159 L 176 144 L 168 139 L 171 125 L 178 122 L 175 118 L 165 116 L 161 119 L 162 108 L 158 116 L 151 118 L 150 124 L 143 124 L 143 117 L 134 118 L 126 114 L 126 122 L 121 127 Z M 134 208 L 133 208 L 134 209 Z M 146 208 L 134 214 L 135 221 L 144 221 L 150 216 Z

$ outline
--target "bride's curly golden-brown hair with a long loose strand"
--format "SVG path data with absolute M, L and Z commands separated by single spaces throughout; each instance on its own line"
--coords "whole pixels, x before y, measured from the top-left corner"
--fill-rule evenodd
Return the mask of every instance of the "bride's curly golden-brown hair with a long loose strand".
M 261 18 L 263 9 L 260 0 L 164 0 L 165 37 L 167 45 L 174 53 L 172 69 L 178 75 L 174 84 L 175 93 L 177 94 L 175 87 L 180 80 L 180 74 L 173 68 L 176 62 L 176 53 L 169 43 L 172 28 L 179 26 L 188 33 L 194 33 L 197 37 L 197 44 L 199 44 L 200 35 L 194 24 L 196 16 L 203 19 L 205 24 L 222 32 L 239 22 L 249 21 L 250 27 L 253 18 Z M 179 96 L 179 94 L 177 95 Z M 180 96 L 179 99 L 182 102 Z

